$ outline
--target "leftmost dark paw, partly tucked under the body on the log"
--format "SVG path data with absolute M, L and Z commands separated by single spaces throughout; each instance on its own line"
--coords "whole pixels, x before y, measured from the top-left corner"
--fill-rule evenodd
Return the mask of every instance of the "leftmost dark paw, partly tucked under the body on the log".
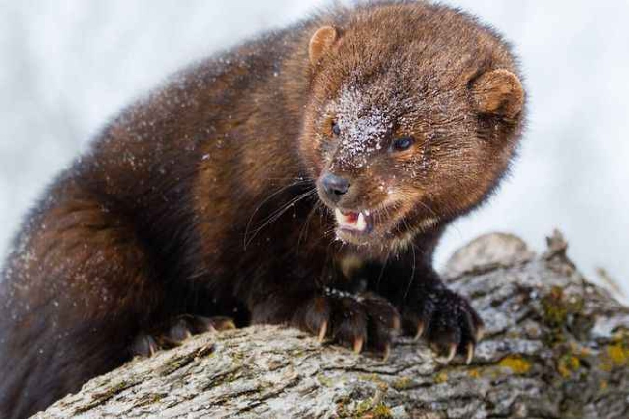
M 234 323 L 228 317 L 177 316 L 152 332 L 140 333 L 130 346 L 131 355 L 150 357 L 158 350 L 181 345 L 181 342 L 192 335 L 233 328 Z

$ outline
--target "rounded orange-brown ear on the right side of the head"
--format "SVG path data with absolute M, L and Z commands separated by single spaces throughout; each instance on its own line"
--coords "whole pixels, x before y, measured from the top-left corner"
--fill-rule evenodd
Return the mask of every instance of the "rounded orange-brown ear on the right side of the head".
M 476 110 L 484 115 L 515 118 L 524 105 L 524 90 L 518 76 L 508 70 L 491 70 L 470 86 Z

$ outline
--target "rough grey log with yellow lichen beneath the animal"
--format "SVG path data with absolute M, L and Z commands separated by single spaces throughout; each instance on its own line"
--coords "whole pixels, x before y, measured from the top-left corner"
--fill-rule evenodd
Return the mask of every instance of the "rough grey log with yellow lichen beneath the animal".
M 629 418 L 629 309 L 579 274 L 555 232 L 535 255 L 505 234 L 444 276 L 487 333 L 470 365 L 400 339 L 387 362 L 298 330 L 191 338 L 87 383 L 36 418 Z

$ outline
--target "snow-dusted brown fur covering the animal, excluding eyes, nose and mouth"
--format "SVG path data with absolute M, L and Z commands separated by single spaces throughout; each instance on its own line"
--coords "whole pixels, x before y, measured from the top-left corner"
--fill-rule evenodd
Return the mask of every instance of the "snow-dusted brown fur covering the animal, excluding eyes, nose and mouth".
M 321 13 L 176 74 L 103 130 L 16 238 L 0 284 L 0 416 L 76 391 L 184 313 L 385 353 L 401 316 L 406 332 L 469 355 L 482 322 L 431 258 L 508 169 L 519 79 L 474 18 L 392 1 Z M 386 129 L 366 135 L 365 121 Z M 401 135 L 413 147 L 390 152 Z M 352 182 L 338 204 L 321 193 L 330 171 Z M 335 206 L 382 211 L 343 243 Z

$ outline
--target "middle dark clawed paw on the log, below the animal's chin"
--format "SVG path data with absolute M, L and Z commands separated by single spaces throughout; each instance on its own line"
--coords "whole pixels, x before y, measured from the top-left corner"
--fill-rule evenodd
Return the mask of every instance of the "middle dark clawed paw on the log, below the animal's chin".
M 292 323 L 314 333 L 320 341 L 330 338 L 356 353 L 366 348 L 382 354 L 384 359 L 400 328 L 398 310 L 386 299 L 336 290 L 304 301 Z

